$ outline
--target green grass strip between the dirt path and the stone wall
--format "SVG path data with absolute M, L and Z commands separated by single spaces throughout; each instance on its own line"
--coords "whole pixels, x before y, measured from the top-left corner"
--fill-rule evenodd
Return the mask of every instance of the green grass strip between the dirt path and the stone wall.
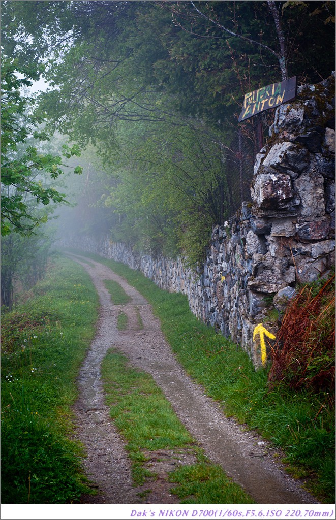
M 227 415 L 270 439 L 285 453 L 294 476 L 305 478 L 319 500 L 334 502 L 335 414 L 328 393 L 295 392 L 286 385 L 270 389 L 267 369 L 255 371 L 240 347 L 198 321 L 186 296 L 160 290 L 122 263 L 85 255 L 110 267 L 147 298 L 179 361 Z

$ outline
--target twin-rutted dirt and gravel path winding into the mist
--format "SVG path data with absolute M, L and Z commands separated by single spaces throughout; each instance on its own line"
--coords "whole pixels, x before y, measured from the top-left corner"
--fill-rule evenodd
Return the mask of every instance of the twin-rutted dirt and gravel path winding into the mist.
M 110 347 L 116 347 L 139 369 L 150 373 L 172 403 L 180 421 L 200 443 L 207 456 L 221 464 L 226 474 L 240 484 L 260 504 L 318 503 L 305 492 L 297 480 L 290 478 L 273 457 L 275 450 L 252 432 L 244 432 L 234 420 L 227 419 L 216 402 L 206 397 L 176 361 L 164 339 L 159 320 L 151 307 L 134 288 L 108 267 L 79 255 L 70 255 L 91 275 L 100 297 L 100 317 L 96 339 L 92 343 L 79 376 L 80 398 L 74 410 L 77 435 L 86 446 L 85 469 L 100 495 L 87 498 L 87 503 L 178 503 L 170 493 L 165 476 L 176 463 L 191 463 L 188 453 L 166 451 L 151 454 L 150 469 L 159 478 L 144 488 L 132 485 L 130 463 L 123 441 L 109 418 L 100 382 L 100 362 Z M 118 306 L 111 303 L 103 280 L 115 280 L 132 297 L 123 305 L 128 316 L 128 330 L 117 329 Z M 144 329 L 137 326 L 136 307 Z M 279 450 L 277 450 L 279 452 Z M 157 455 L 157 456 L 156 456 Z M 176 461 L 176 457 L 179 458 Z M 157 460 L 160 459 L 160 462 Z M 138 493 L 150 488 L 141 499 Z

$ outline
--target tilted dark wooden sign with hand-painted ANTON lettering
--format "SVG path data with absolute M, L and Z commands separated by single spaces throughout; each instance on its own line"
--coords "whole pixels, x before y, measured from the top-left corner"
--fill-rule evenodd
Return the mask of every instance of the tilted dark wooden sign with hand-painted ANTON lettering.
M 244 97 L 244 105 L 238 121 L 251 118 L 252 115 L 263 112 L 268 108 L 278 107 L 296 96 L 296 76 L 289 80 L 281 81 L 261 87 L 253 92 L 248 92 Z

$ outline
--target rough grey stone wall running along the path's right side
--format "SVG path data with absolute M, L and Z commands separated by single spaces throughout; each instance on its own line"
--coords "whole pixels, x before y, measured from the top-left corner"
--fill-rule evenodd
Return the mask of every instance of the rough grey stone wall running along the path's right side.
M 257 154 L 252 203 L 215 226 L 202 271 L 183 262 L 134 252 L 130 246 L 86 237 L 82 249 L 139 269 L 160 288 L 187 294 L 190 309 L 231 336 L 257 367 L 259 323 L 276 335 L 281 311 L 298 282 L 327 275 L 335 261 L 334 74 L 299 87 L 281 105 L 267 145 Z

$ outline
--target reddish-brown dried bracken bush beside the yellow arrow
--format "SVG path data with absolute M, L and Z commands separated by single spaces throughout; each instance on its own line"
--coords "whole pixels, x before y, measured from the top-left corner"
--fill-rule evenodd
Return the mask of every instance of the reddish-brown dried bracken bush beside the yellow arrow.
M 291 300 L 272 350 L 269 383 L 335 393 L 335 275 Z

